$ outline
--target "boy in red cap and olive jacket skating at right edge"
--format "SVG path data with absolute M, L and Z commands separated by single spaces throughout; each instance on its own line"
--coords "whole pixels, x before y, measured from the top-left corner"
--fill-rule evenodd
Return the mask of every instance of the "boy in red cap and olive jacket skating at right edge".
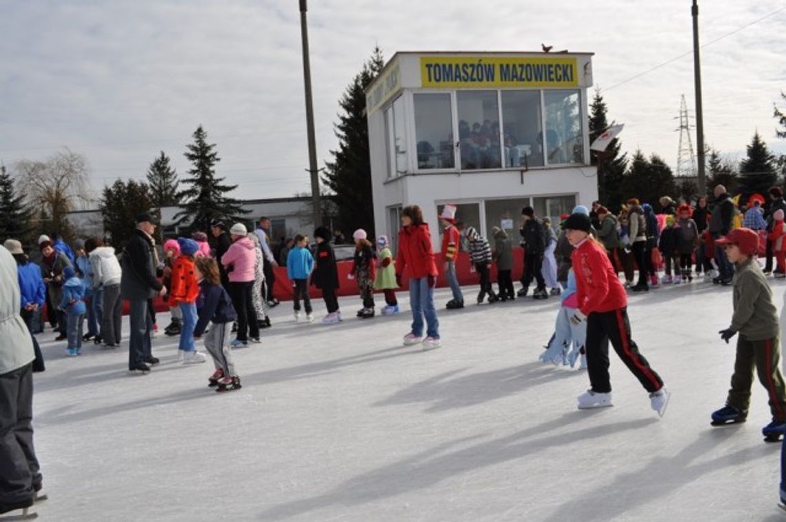
M 780 344 L 778 316 L 773 304 L 773 292 L 755 259 L 758 234 L 739 228 L 718 239 L 715 244 L 725 247 L 726 255 L 736 267 L 733 278 L 734 314 L 729 328 L 721 330 L 722 340 L 729 343 L 736 333 L 736 359 L 732 387 L 726 406 L 712 414 L 713 425 L 743 422 L 751 402 L 753 371 L 767 390 L 773 421 L 762 428 L 768 440 L 777 440 L 786 428 L 786 387 L 780 373 Z

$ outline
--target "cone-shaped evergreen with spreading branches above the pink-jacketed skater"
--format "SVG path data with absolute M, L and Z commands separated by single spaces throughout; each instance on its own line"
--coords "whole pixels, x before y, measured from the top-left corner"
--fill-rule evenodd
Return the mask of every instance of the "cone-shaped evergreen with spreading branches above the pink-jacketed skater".
M 215 164 L 221 161 L 215 152 L 215 143 L 208 144 L 208 133 L 200 125 L 194 131 L 194 142 L 187 145 L 185 157 L 193 164 L 189 170 L 189 178 L 183 180 L 189 188 L 180 193 L 185 200 L 182 211 L 174 215 L 178 225 L 189 222 L 192 230 L 210 230 L 210 222 L 215 218 L 241 219 L 238 216 L 249 211 L 241 206 L 241 202 L 226 197 L 237 185 L 222 185 L 225 178 L 217 178 Z

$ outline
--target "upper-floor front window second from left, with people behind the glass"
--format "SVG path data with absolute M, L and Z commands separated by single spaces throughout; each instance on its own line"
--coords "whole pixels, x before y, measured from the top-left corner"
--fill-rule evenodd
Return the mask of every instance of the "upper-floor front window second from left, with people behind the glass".
M 499 108 L 496 90 L 456 93 L 461 169 L 499 168 Z

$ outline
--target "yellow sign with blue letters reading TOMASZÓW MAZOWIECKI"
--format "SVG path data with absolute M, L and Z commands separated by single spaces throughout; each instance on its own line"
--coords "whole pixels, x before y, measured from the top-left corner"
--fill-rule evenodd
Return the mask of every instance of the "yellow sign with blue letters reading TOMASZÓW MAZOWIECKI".
M 424 87 L 577 87 L 570 57 L 421 57 Z

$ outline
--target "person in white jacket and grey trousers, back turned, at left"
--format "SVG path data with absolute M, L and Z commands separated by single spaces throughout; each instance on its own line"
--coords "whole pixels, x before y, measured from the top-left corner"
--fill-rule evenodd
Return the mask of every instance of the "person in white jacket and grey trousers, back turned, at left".
M 117 347 L 120 344 L 120 326 L 123 324 L 123 300 L 120 299 L 120 276 L 123 270 L 115 249 L 104 246 L 104 242 L 96 237 L 85 241 L 85 252 L 90 256 L 90 266 L 93 267 L 95 292 L 103 293 L 101 335 L 95 343 L 103 341 L 107 347 Z

